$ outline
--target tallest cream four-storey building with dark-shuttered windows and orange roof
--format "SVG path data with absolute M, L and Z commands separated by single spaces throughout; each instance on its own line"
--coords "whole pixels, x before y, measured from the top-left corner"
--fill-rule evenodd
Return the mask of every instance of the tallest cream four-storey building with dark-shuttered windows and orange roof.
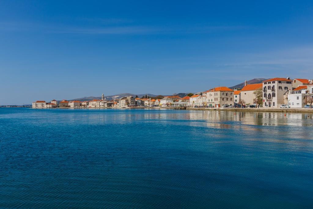
M 280 107 L 286 104 L 285 94 L 292 90 L 292 81 L 287 78 L 271 78 L 263 83 L 263 107 Z M 242 98 L 242 97 L 241 97 Z

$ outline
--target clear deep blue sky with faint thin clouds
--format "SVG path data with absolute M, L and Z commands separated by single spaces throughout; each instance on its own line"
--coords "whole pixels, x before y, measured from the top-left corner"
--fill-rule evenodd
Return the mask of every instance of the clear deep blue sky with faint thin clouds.
M 0 105 L 313 78 L 312 1 L 1 1 Z

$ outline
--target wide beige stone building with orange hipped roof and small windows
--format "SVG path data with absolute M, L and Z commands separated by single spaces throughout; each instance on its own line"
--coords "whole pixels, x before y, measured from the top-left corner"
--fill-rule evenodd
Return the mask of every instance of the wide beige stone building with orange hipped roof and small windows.
M 215 87 L 207 91 L 208 107 L 224 107 L 225 105 L 233 105 L 233 90 L 221 86 Z

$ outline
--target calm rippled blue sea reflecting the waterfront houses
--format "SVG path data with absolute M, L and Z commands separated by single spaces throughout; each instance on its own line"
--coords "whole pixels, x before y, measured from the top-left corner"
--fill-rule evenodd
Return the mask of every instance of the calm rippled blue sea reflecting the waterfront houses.
M 0 208 L 310 208 L 310 113 L 0 108 Z

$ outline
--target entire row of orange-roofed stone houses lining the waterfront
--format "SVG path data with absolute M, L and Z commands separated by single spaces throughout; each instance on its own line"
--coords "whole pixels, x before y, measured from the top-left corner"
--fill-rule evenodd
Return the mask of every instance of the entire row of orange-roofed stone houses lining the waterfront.
M 102 94 L 101 100 L 91 101 L 67 101 L 57 102 L 52 100 L 33 102 L 33 108 L 53 108 L 53 107 L 154 107 L 154 106 L 186 106 L 186 107 L 225 107 L 229 105 L 249 105 L 257 104 L 263 107 L 280 107 L 281 104 L 289 107 L 304 107 L 313 98 L 312 80 L 287 78 L 271 78 L 257 84 L 244 82 L 242 89 L 230 89 L 226 86 L 219 86 L 199 95 L 191 97 L 166 96 L 159 99 L 134 98 L 132 96 L 106 101 Z

